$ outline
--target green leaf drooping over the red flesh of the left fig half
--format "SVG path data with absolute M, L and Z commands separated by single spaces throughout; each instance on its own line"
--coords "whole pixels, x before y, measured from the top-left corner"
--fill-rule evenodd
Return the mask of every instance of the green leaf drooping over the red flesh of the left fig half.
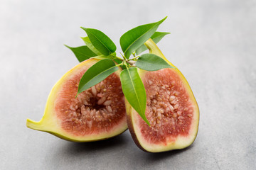
M 100 81 L 106 79 L 110 74 L 116 72 L 118 67 L 110 59 L 103 59 L 95 63 L 87 69 L 85 74 L 82 76 L 82 79 L 78 85 L 78 94 L 82 93 L 86 89 L 94 86 L 95 84 L 100 83 Z M 77 94 L 77 96 L 78 96 Z

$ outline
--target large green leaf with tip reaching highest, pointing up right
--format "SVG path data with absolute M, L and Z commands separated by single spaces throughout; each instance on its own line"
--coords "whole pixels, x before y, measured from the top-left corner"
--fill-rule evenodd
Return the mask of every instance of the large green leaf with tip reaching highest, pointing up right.
M 149 40 L 151 35 L 156 32 L 156 29 L 162 22 L 164 22 L 166 18 L 167 16 L 156 23 L 149 23 L 138 26 L 124 33 L 124 35 L 122 35 L 120 38 L 120 45 L 122 51 L 124 52 L 124 56 L 129 59 L 129 56 L 132 55 L 132 52 L 142 46 L 146 40 Z

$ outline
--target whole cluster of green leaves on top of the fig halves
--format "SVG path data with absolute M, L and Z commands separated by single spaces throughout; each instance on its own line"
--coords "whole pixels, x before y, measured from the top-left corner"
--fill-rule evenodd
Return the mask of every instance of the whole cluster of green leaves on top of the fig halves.
M 150 53 L 140 54 L 147 50 L 144 45 L 146 40 L 151 38 L 157 43 L 165 35 L 169 34 L 166 32 L 156 32 L 159 25 L 165 19 L 166 17 L 155 23 L 137 26 L 124 33 L 119 40 L 122 51 L 124 52 L 121 54 L 122 57 L 117 56 L 116 45 L 105 33 L 94 28 L 81 27 L 87 34 L 87 37 L 82 38 L 85 45 L 80 47 L 65 46 L 73 51 L 79 62 L 89 58 L 97 58 L 100 61 L 87 69 L 80 79 L 77 96 L 82 91 L 106 79 L 110 74 L 116 72 L 119 67 L 122 67 L 123 70 L 120 73 L 120 79 L 124 96 L 134 110 L 150 125 L 145 115 L 146 91 L 142 79 L 139 77 L 138 69 L 156 71 L 173 67 L 157 55 Z M 130 58 L 131 55 L 133 56 L 132 58 Z

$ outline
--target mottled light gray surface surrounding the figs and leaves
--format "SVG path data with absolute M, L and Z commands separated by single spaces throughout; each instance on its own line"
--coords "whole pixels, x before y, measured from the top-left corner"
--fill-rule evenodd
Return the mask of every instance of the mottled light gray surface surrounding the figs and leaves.
M 256 169 L 256 1 L 18 1 L 0 3 L 0 169 Z M 149 154 L 129 132 L 75 143 L 26 128 L 78 64 L 80 26 L 119 42 L 139 24 L 169 18 L 159 47 L 188 79 L 201 111 L 188 149 Z M 118 47 L 117 51 L 121 51 Z

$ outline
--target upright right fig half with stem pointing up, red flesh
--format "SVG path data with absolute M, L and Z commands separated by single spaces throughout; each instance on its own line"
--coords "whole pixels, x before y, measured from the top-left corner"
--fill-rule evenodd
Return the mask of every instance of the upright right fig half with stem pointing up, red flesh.
M 146 152 L 165 152 L 188 147 L 196 139 L 199 109 L 191 87 L 181 72 L 162 54 L 153 40 L 144 45 L 163 58 L 172 69 L 148 72 L 139 69 L 146 89 L 146 119 L 125 101 L 127 124 L 137 146 Z

